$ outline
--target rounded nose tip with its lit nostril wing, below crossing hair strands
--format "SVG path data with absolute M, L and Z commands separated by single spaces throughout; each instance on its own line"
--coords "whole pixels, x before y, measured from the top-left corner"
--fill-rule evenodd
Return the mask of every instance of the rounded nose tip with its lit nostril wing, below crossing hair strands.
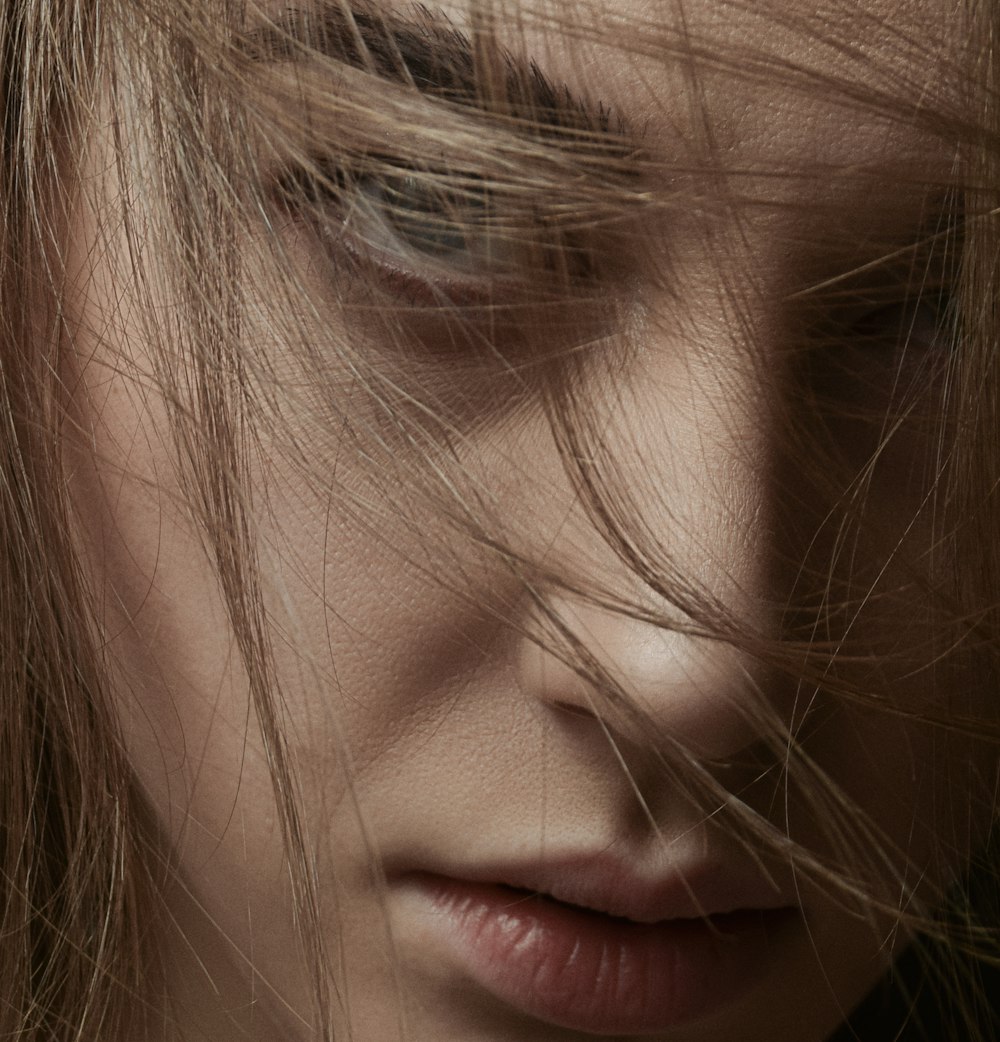
M 559 603 L 553 611 L 596 672 L 607 676 L 655 734 L 703 762 L 728 762 L 757 745 L 781 719 L 767 671 L 731 642 L 597 605 Z M 557 710 L 600 717 L 615 729 L 594 670 L 546 642 L 525 640 L 521 679 L 526 691 Z

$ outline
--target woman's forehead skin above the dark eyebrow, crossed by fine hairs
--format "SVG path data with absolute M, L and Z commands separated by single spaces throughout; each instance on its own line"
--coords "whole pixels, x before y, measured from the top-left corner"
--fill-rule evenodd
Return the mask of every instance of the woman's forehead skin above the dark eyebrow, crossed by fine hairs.
M 267 7 L 293 21 L 301 10 Z M 428 51 L 473 54 L 489 35 L 504 60 L 538 67 L 556 92 L 610 110 L 675 164 L 709 150 L 729 166 L 844 165 L 875 149 L 901 170 L 922 166 L 940 154 L 942 114 L 954 111 L 969 68 L 968 19 L 954 0 L 316 0 L 316 8 L 384 17 L 401 34 L 411 26 Z

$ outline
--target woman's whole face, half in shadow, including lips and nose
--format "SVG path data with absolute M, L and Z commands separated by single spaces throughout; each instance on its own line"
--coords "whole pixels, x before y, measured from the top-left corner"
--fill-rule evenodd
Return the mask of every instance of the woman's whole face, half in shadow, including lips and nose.
M 351 277 L 382 279 L 379 299 L 402 293 L 384 270 L 410 265 L 395 326 L 333 305 L 329 250 L 344 244 L 293 218 L 275 227 L 321 298 L 297 321 L 322 395 L 280 308 L 247 308 L 248 357 L 274 382 L 246 503 L 334 1020 L 359 1042 L 818 1042 L 904 942 L 890 916 L 866 914 L 870 898 L 932 899 L 971 842 L 957 810 L 975 758 L 905 712 L 982 711 L 979 674 L 927 628 L 921 581 L 936 316 L 879 297 L 899 281 L 882 263 L 846 280 L 849 306 L 807 292 L 934 227 L 946 192 L 926 185 L 947 183 L 954 154 L 921 99 L 942 101 L 956 60 L 946 11 L 844 2 L 821 21 L 805 3 L 616 0 L 581 18 L 559 0 L 542 14 L 502 22 L 503 43 L 559 97 L 607 106 L 642 156 L 636 210 L 615 232 L 621 270 L 594 276 L 592 297 L 614 307 L 546 322 L 532 304 L 531 323 L 499 323 L 495 353 L 456 344 L 414 287 L 433 301 L 443 268 L 472 280 L 492 262 L 473 235 L 431 249 L 386 222 L 384 185 L 359 180 L 353 216 L 330 224 L 368 251 Z M 468 29 L 465 4 L 447 17 Z M 307 1039 L 274 753 L 150 376 L 145 322 L 170 302 L 121 276 L 124 237 L 81 208 L 71 479 L 126 739 L 178 867 L 168 984 L 178 1021 L 205 1037 Z M 268 249 L 247 250 L 276 281 Z M 822 346 L 796 351 L 808 338 Z M 368 370 L 349 368 L 345 343 Z M 565 348 L 573 400 L 606 447 L 577 471 L 547 419 Z M 811 469 L 792 430 L 815 443 Z M 626 530 L 641 521 L 643 545 L 715 598 L 744 644 L 811 637 L 843 645 L 838 664 L 821 655 L 797 681 L 699 636 L 588 511 L 572 475 L 595 468 L 627 497 Z M 472 538 L 461 508 L 520 565 Z M 546 618 L 644 726 L 542 649 Z

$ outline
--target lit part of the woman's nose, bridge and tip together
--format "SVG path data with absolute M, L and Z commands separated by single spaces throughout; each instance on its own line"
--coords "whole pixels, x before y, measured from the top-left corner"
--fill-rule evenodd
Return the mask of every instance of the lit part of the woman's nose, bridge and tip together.
M 546 609 L 569 643 L 657 729 L 706 759 L 728 759 L 755 743 L 769 699 L 765 671 L 734 637 L 766 632 L 773 599 L 775 387 L 759 346 L 705 323 L 692 323 L 683 337 L 647 329 L 628 373 L 599 395 L 602 451 L 581 447 L 581 458 L 567 464 L 611 470 L 570 482 L 611 502 L 589 512 L 577 503 L 575 523 L 566 523 L 564 510 L 547 547 L 550 567 L 567 584 L 553 587 Z M 558 498 L 549 499 L 554 511 L 562 510 Z M 620 519 L 619 544 L 601 524 L 583 521 L 584 513 Z M 592 586 L 618 604 L 580 594 Z M 566 650 L 565 642 L 553 651 L 526 641 L 525 686 L 552 705 L 598 713 L 593 679 Z

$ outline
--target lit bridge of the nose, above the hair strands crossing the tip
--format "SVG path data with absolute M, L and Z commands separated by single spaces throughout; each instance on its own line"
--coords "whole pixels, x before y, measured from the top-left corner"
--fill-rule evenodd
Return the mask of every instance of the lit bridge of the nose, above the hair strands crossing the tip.
M 597 444 L 574 446 L 562 465 L 581 499 L 598 500 L 578 513 L 619 518 L 626 540 L 638 538 L 640 552 L 655 547 L 680 587 L 740 616 L 769 582 L 780 333 L 762 321 L 736 324 L 718 303 L 691 311 L 646 317 L 626 362 L 595 373 L 577 408 L 599 416 L 585 428 Z M 551 502 L 561 510 L 557 497 Z M 627 553 L 616 554 L 606 532 L 562 530 L 570 556 L 576 541 L 591 567 L 603 556 L 618 582 L 634 582 Z

